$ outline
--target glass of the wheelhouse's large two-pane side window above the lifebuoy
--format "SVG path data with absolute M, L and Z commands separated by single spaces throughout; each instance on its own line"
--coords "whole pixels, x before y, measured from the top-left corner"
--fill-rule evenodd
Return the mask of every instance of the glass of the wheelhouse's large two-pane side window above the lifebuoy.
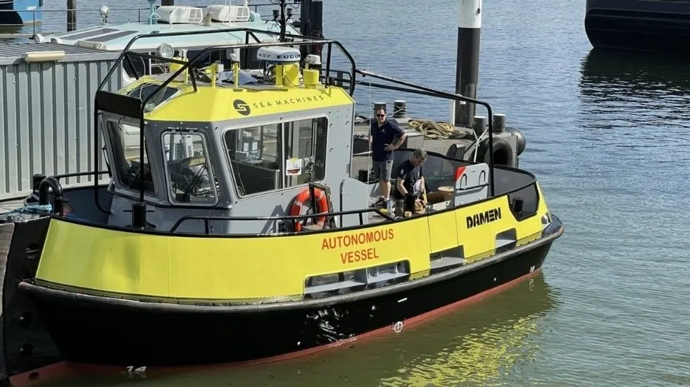
M 326 118 L 225 132 L 240 195 L 318 182 L 325 176 Z

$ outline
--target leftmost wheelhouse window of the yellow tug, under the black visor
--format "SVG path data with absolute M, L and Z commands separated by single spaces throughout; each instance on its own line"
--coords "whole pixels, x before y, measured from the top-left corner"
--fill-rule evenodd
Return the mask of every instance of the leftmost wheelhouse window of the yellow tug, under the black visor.
M 108 121 L 106 127 L 120 183 L 130 189 L 141 189 L 143 184 L 144 189 L 153 194 L 153 177 L 146 138 L 144 138 L 143 173 L 142 168 L 139 167 L 139 127 L 113 121 Z

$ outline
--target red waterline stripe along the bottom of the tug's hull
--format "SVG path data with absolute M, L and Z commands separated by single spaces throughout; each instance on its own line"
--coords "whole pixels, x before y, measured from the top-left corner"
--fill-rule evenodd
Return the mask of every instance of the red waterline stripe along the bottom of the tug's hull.
M 511 288 L 518 283 L 524 281 L 525 279 L 529 279 L 531 277 L 534 277 L 537 275 L 539 272 L 541 272 L 541 267 L 539 269 L 534 270 L 534 272 L 528 273 L 523 275 L 522 277 L 517 277 L 516 279 L 513 279 L 512 281 L 508 281 L 505 284 L 496 286 L 495 288 L 490 288 L 486 291 L 483 291 L 482 293 L 477 293 L 475 296 L 471 296 L 468 298 L 464 298 L 463 300 L 456 301 L 455 303 L 451 303 L 449 305 L 439 307 L 434 310 L 430 310 L 429 312 L 422 313 L 421 315 L 417 315 L 415 317 L 410 317 L 409 319 L 406 319 L 403 322 L 403 330 L 404 329 L 409 329 L 412 326 L 417 326 L 421 324 L 422 322 L 428 322 L 431 319 L 434 319 L 436 317 L 439 317 L 441 315 L 446 315 L 450 312 L 453 312 L 454 310 L 457 310 L 459 307 L 462 307 L 463 305 L 469 304 L 469 303 L 476 303 L 479 300 L 483 300 L 484 298 L 487 298 L 488 296 L 492 296 L 495 293 L 499 293 L 501 291 L 505 291 L 508 288 Z M 330 343 L 330 344 L 325 344 L 325 345 L 320 345 L 318 347 L 314 348 L 307 348 L 304 350 L 298 350 L 295 352 L 291 353 L 286 353 L 284 355 L 276 355 L 272 357 L 264 357 L 263 359 L 257 359 L 257 360 L 246 360 L 243 362 L 232 362 L 232 363 L 225 363 L 225 364 L 208 364 L 208 365 L 195 365 L 195 366 L 182 366 L 182 367 L 161 367 L 161 368 L 156 368 L 156 367 L 151 367 L 147 368 L 147 372 L 161 372 L 163 374 L 178 374 L 182 373 L 185 371 L 194 371 L 194 370 L 199 370 L 199 369 L 208 369 L 208 368 L 220 368 L 220 367 L 239 367 L 239 366 L 246 366 L 246 365 L 253 365 L 253 364 L 264 364 L 264 363 L 270 363 L 270 362 L 278 362 L 278 361 L 283 361 L 283 360 L 291 360 L 295 359 L 297 357 L 304 357 L 306 355 L 313 355 L 315 353 L 320 353 L 324 352 L 325 350 L 329 350 L 332 348 L 337 348 L 340 347 L 341 345 L 345 345 L 348 343 L 352 343 L 354 341 L 364 341 L 368 340 L 371 338 L 374 338 L 375 336 L 379 336 L 381 334 L 384 334 L 386 332 L 393 332 L 392 326 L 384 326 L 379 329 L 375 329 L 373 331 L 368 331 L 363 334 L 359 334 L 357 336 L 353 336 L 351 338 L 346 338 L 341 341 L 337 341 L 335 343 Z M 139 367 L 139 366 L 135 366 Z M 103 373 L 114 373 L 114 374 L 124 374 L 125 373 L 125 367 L 115 367 L 115 366 L 99 366 L 99 365 L 93 365 L 93 364 L 82 364 L 82 363 L 73 363 L 73 362 L 57 362 L 55 364 L 51 364 L 45 367 L 37 368 L 33 371 L 27 371 L 23 372 L 21 374 L 17 374 L 15 376 L 12 376 L 10 378 L 10 385 L 12 387 L 30 387 L 30 386 L 37 386 L 39 383 L 47 383 L 49 381 L 56 381 L 56 379 L 61 379 L 62 377 L 65 376 L 77 376 L 77 375 L 87 375 L 87 374 L 100 374 L 102 375 Z M 136 373 L 134 373 L 136 374 Z M 33 377 L 32 377 L 33 375 Z M 38 376 L 38 377 L 36 377 Z

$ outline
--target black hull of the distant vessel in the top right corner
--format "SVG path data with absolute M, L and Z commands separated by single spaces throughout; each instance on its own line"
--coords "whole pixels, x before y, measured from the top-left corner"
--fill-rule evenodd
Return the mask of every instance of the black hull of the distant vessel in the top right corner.
M 588 0 L 584 28 L 597 49 L 690 54 L 690 2 Z

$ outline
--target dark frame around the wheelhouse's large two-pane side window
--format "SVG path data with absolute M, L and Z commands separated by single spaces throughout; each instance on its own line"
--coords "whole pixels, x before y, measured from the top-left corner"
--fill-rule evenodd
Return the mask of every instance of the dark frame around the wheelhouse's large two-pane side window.
M 326 151 L 324 153 L 324 177 L 321 179 L 313 181 L 313 183 L 322 183 L 325 178 L 326 178 L 326 159 L 327 159 L 327 153 L 328 153 L 328 133 L 330 132 L 328 130 L 328 127 L 330 125 L 330 116 L 327 115 L 326 113 L 319 113 L 315 115 L 304 115 L 300 116 L 298 118 L 292 118 L 289 120 L 284 120 L 284 119 L 277 119 L 277 120 L 270 120 L 270 121 L 262 121 L 262 122 L 256 122 L 256 124 L 242 124 L 242 125 L 229 125 L 225 128 L 222 129 L 222 132 L 220 132 L 220 138 L 222 142 L 222 148 L 223 148 L 223 153 L 225 153 L 225 160 L 227 163 L 227 168 L 230 170 L 230 179 L 232 179 L 232 190 L 235 195 L 237 195 L 238 199 L 246 199 L 246 198 L 254 198 L 258 196 L 264 196 L 264 195 L 270 195 L 274 193 L 280 193 L 287 191 L 289 189 L 296 189 L 298 187 L 306 187 L 309 186 L 309 183 L 304 183 L 304 184 L 299 184 L 299 185 L 294 185 L 294 186 L 287 186 L 287 187 L 282 187 L 280 189 L 273 189 L 271 191 L 261 191 L 261 192 L 255 192 L 253 194 L 240 194 L 239 193 L 239 185 L 237 184 L 236 178 L 235 178 L 235 171 L 232 168 L 232 160 L 230 159 L 230 148 L 227 147 L 227 143 L 225 141 L 225 135 L 227 132 L 230 132 L 232 130 L 239 131 L 242 129 L 248 129 L 251 127 L 261 127 L 261 126 L 267 126 L 267 125 L 284 125 L 284 124 L 294 124 L 295 122 L 303 121 L 303 120 L 318 120 L 319 118 L 324 118 L 326 120 L 326 129 L 325 129 L 325 148 Z M 280 127 L 280 136 L 282 137 L 284 134 L 282 132 L 282 126 Z M 314 154 L 316 154 L 315 148 L 316 148 L 316 141 L 315 138 L 313 140 L 314 143 Z M 280 171 L 282 172 L 282 178 L 284 179 L 286 176 L 284 175 L 284 168 L 285 168 L 285 144 L 282 144 L 280 147 Z M 283 180 L 284 181 L 284 180 Z

